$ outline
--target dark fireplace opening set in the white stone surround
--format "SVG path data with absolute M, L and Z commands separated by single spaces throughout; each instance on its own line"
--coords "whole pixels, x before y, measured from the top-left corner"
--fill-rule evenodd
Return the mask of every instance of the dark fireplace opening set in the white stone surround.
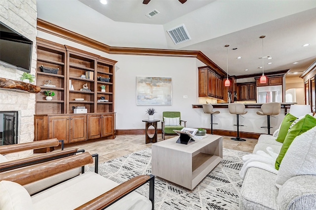
M 18 112 L 0 111 L 0 145 L 18 143 Z

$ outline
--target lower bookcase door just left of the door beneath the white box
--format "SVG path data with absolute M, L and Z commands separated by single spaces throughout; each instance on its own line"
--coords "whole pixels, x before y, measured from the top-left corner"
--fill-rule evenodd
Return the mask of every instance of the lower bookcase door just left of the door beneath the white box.
M 48 138 L 57 138 L 69 143 L 69 116 L 48 117 Z

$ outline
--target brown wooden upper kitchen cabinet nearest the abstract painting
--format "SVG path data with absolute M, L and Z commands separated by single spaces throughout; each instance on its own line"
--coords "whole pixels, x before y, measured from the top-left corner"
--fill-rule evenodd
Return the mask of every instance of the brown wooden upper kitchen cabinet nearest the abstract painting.
M 223 99 L 223 79 L 208 67 L 198 68 L 198 97 Z

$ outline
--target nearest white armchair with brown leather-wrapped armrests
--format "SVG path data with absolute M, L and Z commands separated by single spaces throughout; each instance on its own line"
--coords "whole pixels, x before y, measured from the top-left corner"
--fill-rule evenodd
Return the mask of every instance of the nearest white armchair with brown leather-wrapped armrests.
M 12 210 L 152 210 L 154 175 L 139 175 L 118 184 L 86 172 L 30 196 L 23 187 L 38 179 L 93 163 L 85 152 L 71 157 L 0 173 L 0 207 Z M 149 182 L 149 199 L 134 192 Z M 119 200 L 120 199 L 120 200 Z

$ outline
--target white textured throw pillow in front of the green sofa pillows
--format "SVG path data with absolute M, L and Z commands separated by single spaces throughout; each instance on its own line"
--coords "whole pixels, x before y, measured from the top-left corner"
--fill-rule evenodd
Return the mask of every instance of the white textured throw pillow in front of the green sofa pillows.
M 298 175 L 316 175 L 316 126 L 297 136 L 286 151 L 276 186 L 281 187 L 289 178 Z

